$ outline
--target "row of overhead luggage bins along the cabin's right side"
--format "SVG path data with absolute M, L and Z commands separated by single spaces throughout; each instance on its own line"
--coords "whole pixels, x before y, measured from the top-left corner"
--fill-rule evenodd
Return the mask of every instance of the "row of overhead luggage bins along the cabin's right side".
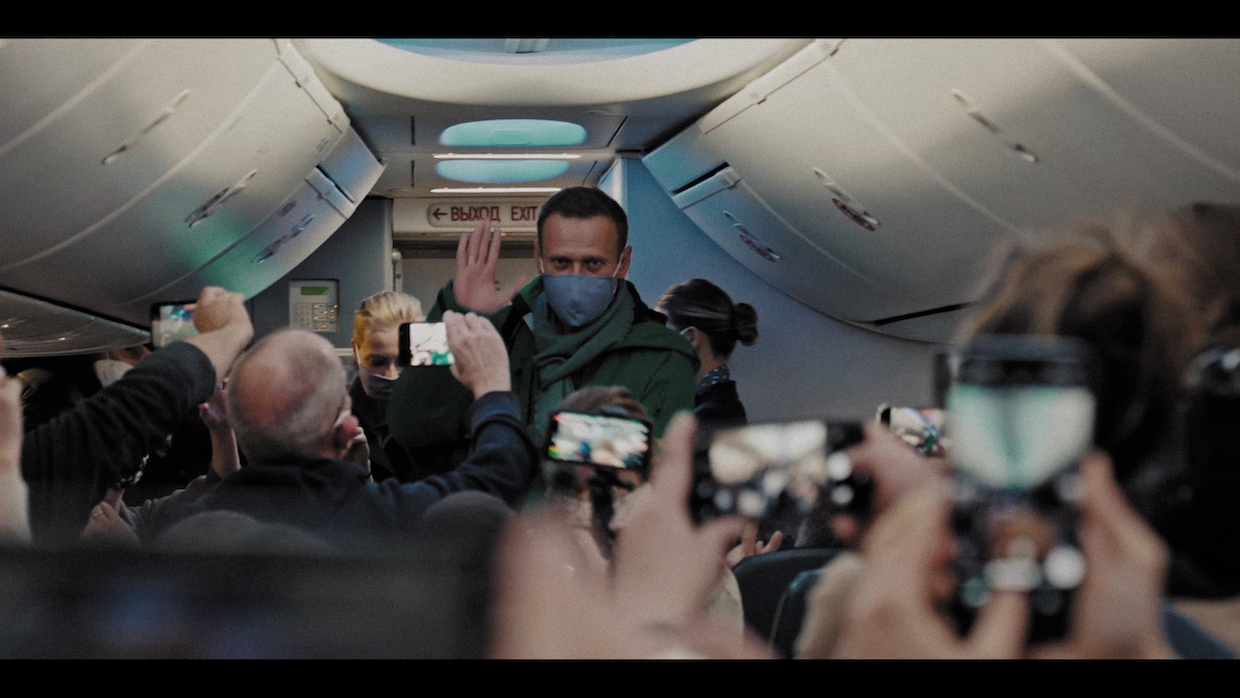
M 1240 191 L 1240 146 L 1219 125 L 1240 114 L 1225 69 L 1240 42 L 1140 43 L 820 40 L 644 161 L 789 295 L 947 341 L 1017 241 Z M 694 211 L 708 200 L 686 195 L 723 171 L 770 212 L 750 239 L 787 241 L 795 264 L 755 264 L 727 217 Z

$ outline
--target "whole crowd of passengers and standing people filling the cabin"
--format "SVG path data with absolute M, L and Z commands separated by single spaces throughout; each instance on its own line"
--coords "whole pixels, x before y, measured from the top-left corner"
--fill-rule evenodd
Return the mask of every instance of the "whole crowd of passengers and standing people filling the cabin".
M 694 521 L 697 433 L 746 422 L 728 360 L 758 340 L 756 311 L 704 279 L 649 307 L 626 280 L 625 212 L 596 188 L 552 196 L 537 227 L 528 284 L 500 283 L 500 232 L 484 221 L 429 312 L 398 293 L 366 299 L 352 379 L 314 332 L 252 343 L 244 299 L 219 288 L 197 300 L 197 335 L 92 357 L 88 394 L 2 377 L 0 537 L 336 555 L 450 538 L 479 559 L 486 619 L 460 622 L 480 625 L 475 651 L 491 657 L 773 657 L 732 568 L 785 542 L 847 549 L 810 593 L 796 652 L 812 658 L 1176 657 L 1188 651 L 1166 631 L 1169 598 L 1240 594 L 1240 207 L 1013 254 L 962 337 L 1089 347 L 1092 446 L 1065 495 L 1084 573 L 1052 640 L 1030 635 L 1037 600 L 1003 584 L 976 621 L 954 614 L 950 448 L 926 457 L 869 425 L 842 451 L 870 484 L 864 507 L 823 500 L 782 532 Z M 422 321 L 443 322 L 450 364 L 402 364 L 399 327 Z M 564 410 L 646 424 L 653 457 L 549 467 Z M 186 420 L 205 425 L 205 472 L 135 498 Z

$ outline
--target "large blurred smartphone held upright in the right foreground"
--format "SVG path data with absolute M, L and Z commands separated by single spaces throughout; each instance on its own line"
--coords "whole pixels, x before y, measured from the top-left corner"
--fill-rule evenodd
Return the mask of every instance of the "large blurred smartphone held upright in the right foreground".
M 947 393 L 956 466 L 956 593 L 967 632 L 996 589 L 1029 594 L 1030 643 L 1068 632 L 1085 577 L 1078 464 L 1094 435 L 1089 347 L 1070 337 L 990 335 Z

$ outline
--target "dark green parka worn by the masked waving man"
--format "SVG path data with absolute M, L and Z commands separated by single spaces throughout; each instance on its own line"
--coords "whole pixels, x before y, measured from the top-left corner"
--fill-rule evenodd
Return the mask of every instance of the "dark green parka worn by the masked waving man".
M 693 410 L 701 362 L 693 345 L 663 326 L 665 317 L 646 307 L 631 283 L 625 280 L 624 284 L 622 293 L 631 294 L 634 300 L 629 334 L 574 373 L 573 384 L 577 389 L 594 386 L 629 388 L 650 414 L 655 435 L 662 436 L 673 414 Z M 539 276 L 521 289 L 513 303 L 487 316 L 508 347 L 512 392 L 521 405 L 521 420 L 527 426 L 533 414 L 537 376 L 533 364 L 534 335 L 526 320 L 542 293 Z M 439 291 L 427 321 L 441 321 L 445 310 L 469 312 L 456 303 L 451 281 Z M 435 444 L 458 441 L 465 433 L 464 419 L 472 400 L 474 397 L 446 366 L 407 368 L 401 372 L 388 403 L 392 438 L 414 453 Z

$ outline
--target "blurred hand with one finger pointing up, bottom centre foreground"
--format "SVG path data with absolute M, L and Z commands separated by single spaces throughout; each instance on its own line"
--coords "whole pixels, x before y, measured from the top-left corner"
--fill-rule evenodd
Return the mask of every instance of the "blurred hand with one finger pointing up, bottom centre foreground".
M 557 516 L 516 519 L 498 565 L 492 656 L 770 658 L 704 615 L 740 519 L 694 527 L 688 513 L 693 418 L 672 420 L 660 465 L 620 532 L 614 583 Z

